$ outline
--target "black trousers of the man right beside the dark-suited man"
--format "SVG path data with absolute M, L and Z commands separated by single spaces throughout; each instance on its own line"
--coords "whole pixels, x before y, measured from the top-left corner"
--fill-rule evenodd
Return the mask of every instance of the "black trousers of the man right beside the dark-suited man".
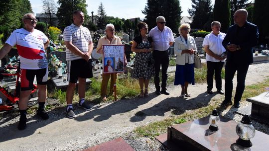
M 207 61 L 207 89 L 211 90 L 213 88 L 213 75 L 215 73 L 215 80 L 216 80 L 216 88 L 217 90 L 221 89 L 221 69 L 223 67 L 224 62 L 211 62 Z

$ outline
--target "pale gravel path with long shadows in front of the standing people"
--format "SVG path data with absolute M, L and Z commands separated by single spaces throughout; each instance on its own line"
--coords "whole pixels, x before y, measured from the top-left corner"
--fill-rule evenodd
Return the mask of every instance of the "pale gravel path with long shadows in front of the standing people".
M 246 84 L 262 82 L 268 76 L 269 63 L 251 65 Z M 151 88 L 148 98 L 136 97 L 99 104 L 86 112 L 75 107 L 77 117 L 74 119 L 65 118 L 64 108 L 49 111 L 50 119 L 46 121 L 35 114 L 28 114 L 27 129 L 24 131 L 16 128 L 18 113 L 12 119 L 3 117 L 0 119 L 0 151 L 78 151 L 118 137 L 122 137 L 135 151 L 167 151 L 156 140 L 137 137 L 133 133 L 134 128 L 173 116 L 172 111 L 175 109 L 182 113 L 189 112 L 208 105 L 214 98 L 224 98 L 216 93 L 207 95 L 205 83 L 190 85 L 192 97 L 184 100 L 178 98 L 179 86 L 169 85 L 168 90 L 170 95 L 156 96 L 154 88 Z M 244 101 L 242 107 L 249 104 Z M 137 113 L 144 115 L 139 116 Z M 242 118 L 233 108 L 227 108 L 222 114 L 235 121 Z M 257 122 L 254 122 L 254 126 L 269 134 L 269 126 Z

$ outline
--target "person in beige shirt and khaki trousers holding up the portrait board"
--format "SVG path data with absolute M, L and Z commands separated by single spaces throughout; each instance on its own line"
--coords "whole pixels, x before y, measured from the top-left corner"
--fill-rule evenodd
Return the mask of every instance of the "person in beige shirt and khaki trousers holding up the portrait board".
M 121 45 L 122 41 L 119 37 L 115 36 L 115 27 L 113 24 L 107 24 L 106 26 L 106 36 L 103 36 L 99 39 L 97 44 L 97 53 L 103 54 L 103 45 Z M 104 61 L 104 56 L 102 56 L 102 59 Z M 126 56 L 124 56 L 125 59 L 125 65 L 127 65 Z M 103 74 L 102 75 L 102 83 L 101 83 L 101 99 L 107 100 L 107 86 L 108 81 L 110 80 L 110 93 L 113 92 L 113 86 L 116 84 L 117 79 L 117 73 L 112 74 Z

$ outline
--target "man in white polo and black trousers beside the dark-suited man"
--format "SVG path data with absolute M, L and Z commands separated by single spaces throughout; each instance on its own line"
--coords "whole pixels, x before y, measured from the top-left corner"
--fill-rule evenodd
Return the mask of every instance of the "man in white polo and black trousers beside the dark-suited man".
M 207 63 L 207 93 L 213 94 L 213 75 L 215 73 L 216 88 L 219 94 L 224 94 L 222 90 L 221 69 L 226 58 L 226 50 L 222 46 L 222 41 L 226 36 L 225 33 L 220 32 L 221 23 L 213 21 L 211 23 L 212 32 L 204 38 L 203 46 L 206 52 Z

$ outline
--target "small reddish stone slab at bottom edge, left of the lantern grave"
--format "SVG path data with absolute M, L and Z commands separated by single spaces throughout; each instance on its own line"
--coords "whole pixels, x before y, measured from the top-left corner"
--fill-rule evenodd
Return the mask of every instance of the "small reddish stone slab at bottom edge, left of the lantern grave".
M 134 151 L 134 149 L 124 139 L 118 138 L 83 151 Z

